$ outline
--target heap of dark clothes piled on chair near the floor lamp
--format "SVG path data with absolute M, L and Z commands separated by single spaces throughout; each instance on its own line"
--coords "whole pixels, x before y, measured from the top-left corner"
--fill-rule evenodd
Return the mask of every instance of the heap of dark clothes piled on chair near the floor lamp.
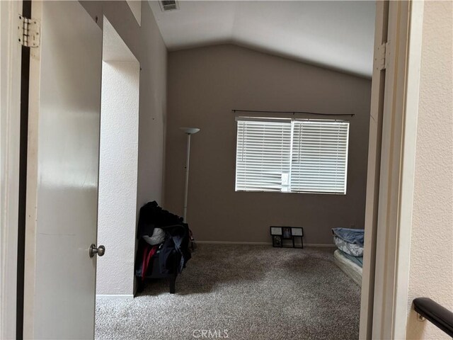
M 160 276 L 181 273 L 191 256 L 190 237 L 190 229 L 182 217 L 162 209 L 156 201 L 144 205 L 137 228 L 135 275 L 144 280 L 151 273 Z

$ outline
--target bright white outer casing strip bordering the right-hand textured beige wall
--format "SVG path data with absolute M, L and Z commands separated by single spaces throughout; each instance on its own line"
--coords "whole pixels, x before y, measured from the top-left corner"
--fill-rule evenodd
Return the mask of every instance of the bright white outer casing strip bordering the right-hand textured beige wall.
M 415 145 L 417 139 L 418 95 L 422 57 L 423 1 L 411 1 L 409 9 L 408 52 L 406 60 L 406 91 L 401 155 L 399 230 L 396 244 L 396 278 L 394 283 L 393 339 L 406 339 L 407 303 L 409 295 L 409 260 L 411 259 L 411 227 L 413 183 L 415 176 Z

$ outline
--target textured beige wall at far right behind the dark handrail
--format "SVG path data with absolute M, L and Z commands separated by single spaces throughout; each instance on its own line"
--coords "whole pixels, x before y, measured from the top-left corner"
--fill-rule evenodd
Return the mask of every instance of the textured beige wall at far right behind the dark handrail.
M 418 322 L 415 297 L 453 310 L 453 11 L 451 1 L 426 1 L 420 74 L 408 339 L 451 339 Z

